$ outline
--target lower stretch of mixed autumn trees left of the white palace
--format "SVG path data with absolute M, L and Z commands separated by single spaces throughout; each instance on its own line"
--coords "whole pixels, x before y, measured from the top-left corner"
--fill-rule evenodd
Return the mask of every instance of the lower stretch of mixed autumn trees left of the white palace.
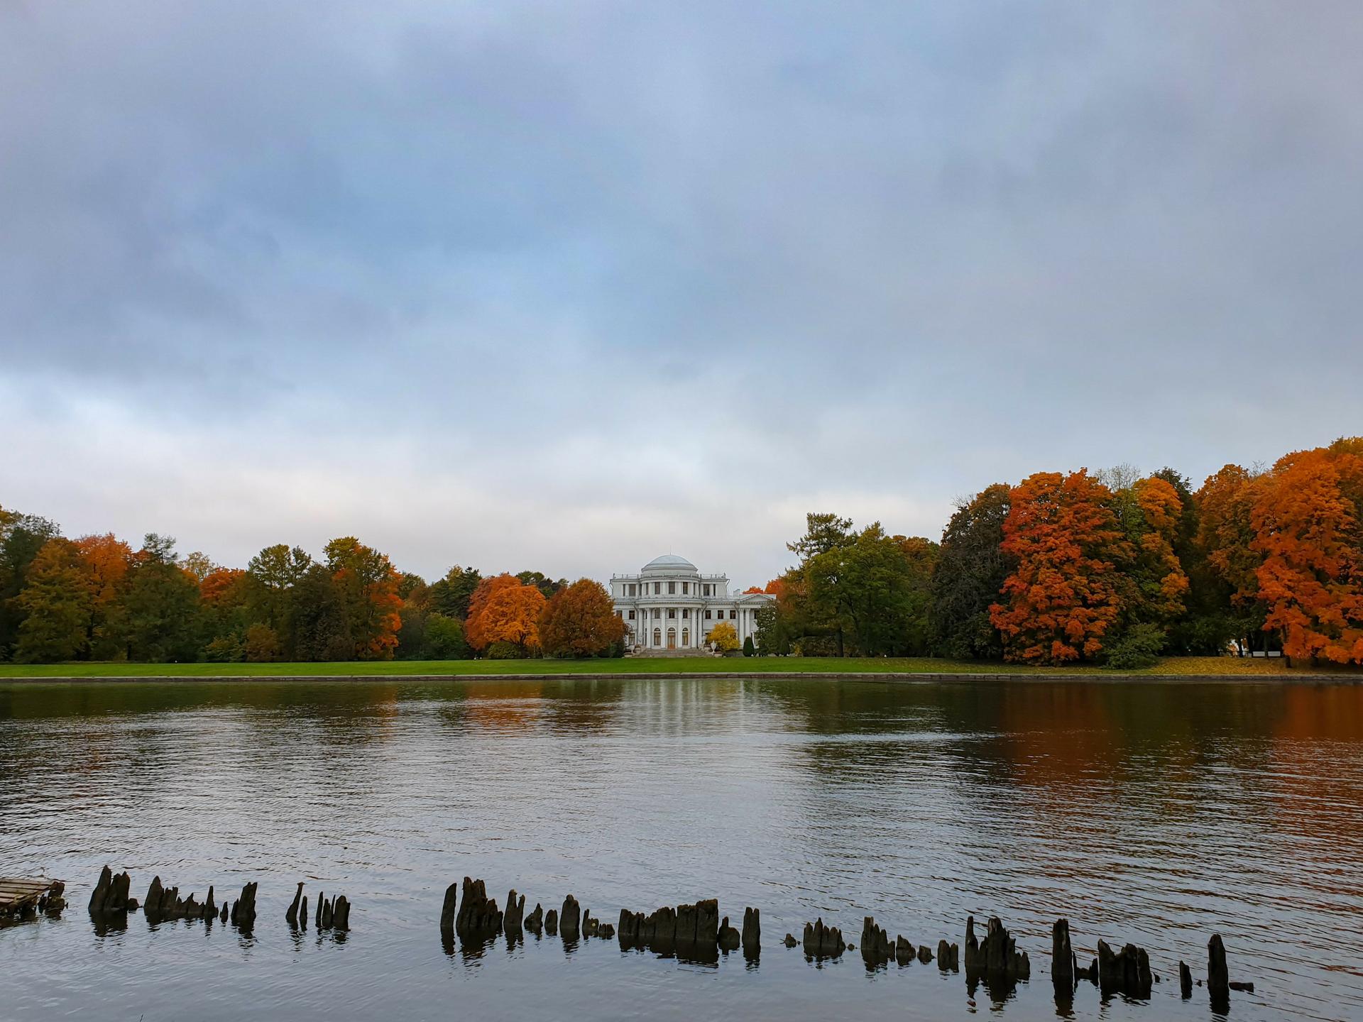
M 455 566 L 427 585 L 354 537 L 320 557 L 267 546 L 245 568 L 151 533 L 61 536 L 0 507 L 0 660 L 270 662 L 623 653 L 605 589 Z

